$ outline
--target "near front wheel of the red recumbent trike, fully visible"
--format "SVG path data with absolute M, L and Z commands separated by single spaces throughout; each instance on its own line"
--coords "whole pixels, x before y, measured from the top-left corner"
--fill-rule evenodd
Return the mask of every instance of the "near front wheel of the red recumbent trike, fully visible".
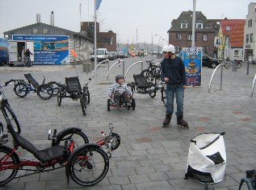
M 70 155 L 66 173 L 80 185 L 98 184 L 107 175 L 108 155 L 97 144 L 86 144 Z

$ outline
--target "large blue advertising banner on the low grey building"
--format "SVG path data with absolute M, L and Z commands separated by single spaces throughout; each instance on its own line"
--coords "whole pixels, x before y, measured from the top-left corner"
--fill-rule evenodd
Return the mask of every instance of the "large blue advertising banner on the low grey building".
M 69 64 L 69 35 L 13 35 L 12 39 L 34 43 L 33 64 Z

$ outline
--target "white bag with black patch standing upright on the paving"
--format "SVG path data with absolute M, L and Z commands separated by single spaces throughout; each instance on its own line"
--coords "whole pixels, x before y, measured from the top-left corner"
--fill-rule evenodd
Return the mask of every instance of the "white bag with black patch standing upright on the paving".
M 225 178 L 225 133 L 204 133 L 191 139 L 185 177 L 205 184 L 218 183 Z

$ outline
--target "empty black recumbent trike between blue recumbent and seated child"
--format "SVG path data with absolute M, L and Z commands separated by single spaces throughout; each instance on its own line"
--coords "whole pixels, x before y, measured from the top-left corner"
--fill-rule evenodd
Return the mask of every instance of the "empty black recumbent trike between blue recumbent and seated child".
M 81 87 L 78 76 L 65 77 L 65 85 L 61 85 L 57 92 L 57 104 L 61 106 L 62 98 L 70 97 L 73 101 L 80 100 L 82 106 L 82 114 L 86 115 L 86 105 L 90 103 L 90 92 L 88 89 L 88 83 Z

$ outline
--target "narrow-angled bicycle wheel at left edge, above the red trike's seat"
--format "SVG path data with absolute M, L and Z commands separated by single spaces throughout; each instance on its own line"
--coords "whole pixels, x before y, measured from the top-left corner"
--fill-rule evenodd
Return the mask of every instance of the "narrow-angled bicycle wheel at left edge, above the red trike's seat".
M 15 113 L 13 112 L 13 110 L 10 108 L 10 105 L 2 104 L 1 109 L 2 109 L 3 117 L 6 119 L 6 122 L 7 122 L 7 119 L 9 119 L 12 127 L 14 127 L 15 131 L 18 134 L 20 134 L 21 130 L 20 130 L 20 126 L 19 126 L 19 121 L 18 121 Z

